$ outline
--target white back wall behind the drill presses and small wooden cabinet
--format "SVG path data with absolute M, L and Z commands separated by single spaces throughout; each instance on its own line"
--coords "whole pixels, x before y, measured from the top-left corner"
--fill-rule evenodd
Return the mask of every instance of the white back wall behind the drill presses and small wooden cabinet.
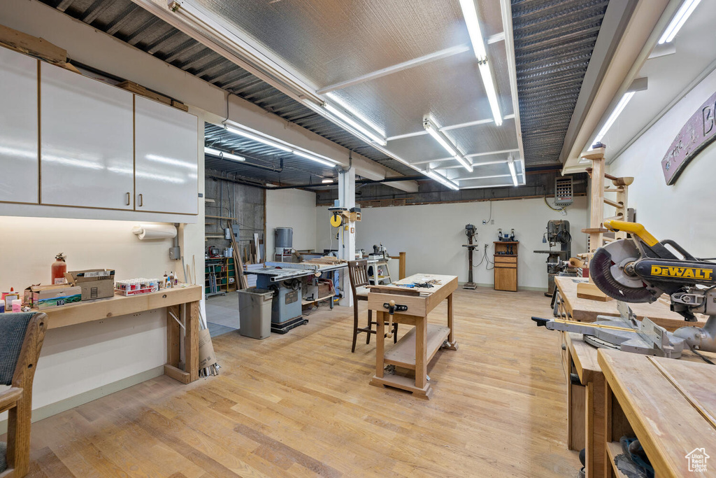
M 490 203 L 486 201 L 363 209 L 362 221 L 357 223 L 356 247 L 369 252 L 373 244 L 382 243 L 392 256 L 407 252 L 408 275 L 417 272 L 450 274 L 457 275 L 460 282 L 467 282 L 468 252 L 462 247 L 467 244 L 465 224 L 474 224 L 478 228 L 479 250 L 473 252 L 474 264 L 483 257 L 484 244 L 488 244 L 488 257 L 492 259 L 498 228 L 503 232 L 514 228 L 520 242 L 518 285 L 539 290 L 547 290 L 547 257 L 532 251 L 548 249 L 548 244 L 542 243 L 547 221 L 566 219 L 570 222 L 573 255 L 586 248 L 586 236 L 580 232 L 586 227 L 584 197 L 576 198 L 567 216 L 549 209 L 543 199 L 492 201 L 492 206 L 495 224 L 485 226 L 482 220 L 490 217 Z M 331 246 L 334 232 L 329 226 L 328 210 L 317 208 L 316 215 L 316 247 L 319 250 L 337 247 L 335 239 Z M 391 273 L 397 279 L 397 267 L 393 268 Z M 492 285 L 493 271 L 485 269 L 483 262 L 480 267 L 475 267 L 473 280 L 480 285 Z

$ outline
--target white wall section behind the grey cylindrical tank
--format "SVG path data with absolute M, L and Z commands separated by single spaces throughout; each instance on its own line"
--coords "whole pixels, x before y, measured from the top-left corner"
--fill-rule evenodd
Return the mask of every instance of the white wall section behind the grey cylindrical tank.
M 266 191 L 266 255 L 274 257 L 274 229 L 294 228 L 294 249 L 316 247 L 316 193 L 300 189 Z

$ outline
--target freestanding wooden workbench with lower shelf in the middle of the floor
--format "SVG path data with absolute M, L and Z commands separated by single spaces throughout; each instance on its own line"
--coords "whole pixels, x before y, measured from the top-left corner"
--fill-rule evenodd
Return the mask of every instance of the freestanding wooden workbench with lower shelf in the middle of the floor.
M 400 287 L 414 282 L 439 281 L 435 287 Z M 445 346 L 458 350 L 453 323 L 453 292 L 458 288 L 458 277 L 454 275 L 414 274 L 391 285 L 384 285 L 386 292 L 369 292 L 368 308 L 376 312 L 377 332 L 375 348 L 375 375 L 370 381 L 374 386 L 391 386 L 411 391 L 417 396 L 430 398 L 432 388 L 427 382 L 427 364 L 437 350 Z M 395 293 L 388 293 L 395 290 Z M 420 292 L 420 295 L 400 295 L 400 292 Z M 396 295 L 397 294 L 397 295 Z M 443 300 L 448 300 L 448 327 L 427 323 L 427 315 Z M 385 352 L 384 322 L 388 312 L 383 305 L 395 300 L 397 305 L 407 305 L 405 312 L 396 312 L 393 322 L 415 325 L 390 350 Z M 384 376 L 384 366 L 396 365 L 415 371 L 415 379 L 400 375 Z

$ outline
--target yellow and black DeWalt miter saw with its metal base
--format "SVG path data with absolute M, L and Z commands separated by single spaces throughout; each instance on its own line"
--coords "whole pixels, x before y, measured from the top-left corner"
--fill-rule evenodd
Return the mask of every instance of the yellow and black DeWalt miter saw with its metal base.
M 716 263 L 697 259 L 670 239 L 658 241 L 642 224 L 604 221 L 604 227 L 631 235 L 596 249 L 590 263 L 594 284 L 619 301 L 621 317 L 600 316 L 593 323 L 533 317 L 537 325 L 582 333 L 597 347 L 647 355 L 678 358 L 684 348 L 716 352 Z M 671 310 L 687 322 L 697 320 L 695 313 L 707 315 L 705 326 L 669 333 L 647 318 L 639 322 L 624 303 L 654 302 L 664 293 Z

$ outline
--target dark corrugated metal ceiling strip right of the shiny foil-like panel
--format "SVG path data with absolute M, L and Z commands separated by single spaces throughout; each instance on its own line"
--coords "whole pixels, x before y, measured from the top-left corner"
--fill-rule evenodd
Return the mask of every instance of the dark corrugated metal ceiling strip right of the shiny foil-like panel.
M 609 0 L 512 0 L 527 166 L 559 162 Z

